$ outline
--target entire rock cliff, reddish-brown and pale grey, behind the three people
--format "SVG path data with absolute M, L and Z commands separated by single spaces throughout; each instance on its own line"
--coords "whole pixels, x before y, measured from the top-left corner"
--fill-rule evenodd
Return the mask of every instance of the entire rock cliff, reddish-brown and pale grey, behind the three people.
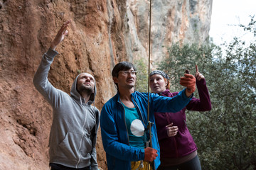
M 212 0 L 155 0 L 151 13 L 151 63 L 173 42 L 204 42 Z M 48 79 L 67 93 L 80 72 L 97 81 L 95 106 L 116 93 L 111 71 L 124 60 L 146 60 L 149 1 L 0 0 L 0 169 L 48 169 L 52 108 L 33 86 L 33 74 L 60 26 L 72 20 L 69 35 Z M 161 60 L 161 58 L 160 58 Z M 100 130 L 97 160 L 107 169 Z

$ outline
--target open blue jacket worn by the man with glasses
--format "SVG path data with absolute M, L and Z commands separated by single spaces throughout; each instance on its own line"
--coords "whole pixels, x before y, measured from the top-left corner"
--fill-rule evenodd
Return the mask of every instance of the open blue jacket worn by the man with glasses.
M 155 112 L 177 112 L 184 108 L 191 98 L 187 98 L 185 89 L 180 91 L 174 98 L 159 96 L 158 94 L 149 94 L 149 121 L 154 120 Z M 132 94 L 132 102 L 137 108 L 139 117 L 146 129 L 148 94 L 135 91 Z M 100 116 L 100 127 L 102 133 L 102 142 L 107 154 L 108 169 L 130 170 L 131 163 L 144 160 L 144 149 L 129 146 L 127 127 L 125 125 L 124 106 L 119 99 L 119 94 L 112 97 L 102 108 Z M 156 125 L 151 128 L 153 134 L 152 147 L 157 149 L 158 157 L 154 160 L 155 169 L 160 164 L 160 149 L 157 140 Z

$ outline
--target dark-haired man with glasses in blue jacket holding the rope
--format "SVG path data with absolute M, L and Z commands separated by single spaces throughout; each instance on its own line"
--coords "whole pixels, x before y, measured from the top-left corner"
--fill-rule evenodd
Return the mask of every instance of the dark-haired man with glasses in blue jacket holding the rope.
M 148 94 L 134 90 L 137 69 L 132 63 L 120 62 L 114 66 L 112 77 L 117 94 L 102 108 L 100 126 L 102 142 L 107 154 L 108 169 L 147 169 L 149 162 L 154 169 L 160 164 L 156 126 L 151 128 L 151 147 L 145 129 L 148 125 Z M 174 98 L 149 94 L 149 121 L 154 123 L 155 112 L 177 112 L 184 108 L 196 90 L 196 79 L 191 74 L 181 77 L 180 84 L 186 89 Z M 146 139 L 146 140 L 145 140 Z M 152 169 L 152 167 L 150 168 Z

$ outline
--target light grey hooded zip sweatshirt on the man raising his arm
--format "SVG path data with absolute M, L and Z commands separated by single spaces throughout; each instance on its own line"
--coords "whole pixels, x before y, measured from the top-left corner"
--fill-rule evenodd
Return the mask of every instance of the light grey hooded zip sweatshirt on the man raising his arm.
M 56 89 L 48 81 L 50 64 L 58 52 L 49 49 L 43 55 L 41 64 L 33 78 L 33 84 L 53 108 L 53 124 L 50 129 L 50 163 L 62 164 L 71 168 L 91 166 L 97 169 L 96 137 L 100 112 L 92 106 L 95 93 L 90 101 L 80 96 L 73 82 L 69 96 Z M 79 76 L 79 75 L 78 75 Z

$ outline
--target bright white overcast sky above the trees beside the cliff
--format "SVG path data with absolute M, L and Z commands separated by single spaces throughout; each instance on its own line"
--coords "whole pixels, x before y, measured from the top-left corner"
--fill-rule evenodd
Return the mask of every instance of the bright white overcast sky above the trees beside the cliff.
M 252 35 L 244 34 L 238 25 L 250 22 L 249 16 L 255 15 L 256 0 L 213 0 L 213 11 L 210 19 L 210 37 L 216 45 L 233 39 L 234 35 L 242 40 L 252 40 Z

